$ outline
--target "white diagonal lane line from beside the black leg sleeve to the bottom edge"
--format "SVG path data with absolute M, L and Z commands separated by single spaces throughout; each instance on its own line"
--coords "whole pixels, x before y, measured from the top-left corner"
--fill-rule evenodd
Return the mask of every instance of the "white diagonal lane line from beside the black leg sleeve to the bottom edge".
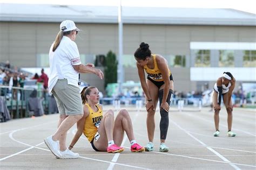
M 213 152 L 213 153 L 214 153 L 215 155 L 217 155 L 220 159 L 222 159 L 222 160 L 224 160 L 225 162 L 228 162 L 228 163 L 231 162 L 230 160 L 228 160 L 228 159 L 226 159 L 225 157 L 223 157 L 223 155 L 221 155 L 221 154 L 218 153 L 217 151 L 213 150 L 213 148 L 208 147 L 205 143 L 203 143 L 203 141 L 201 141 L 201 140 L 197 139 L 196 137 L 194 137 L 190 132 L 188 132 L 187 130 L 181 128 L 181 126 L 179 126 L 177 123 L 175 123 L 175 122 L 173 122 L 173 121 L 171 121 L 171 122 L 172 122 L 173 124 L 175 124 L 179 129 L 181 129 L 181 130 L 183 130 L 185 133 L 187 133 L 188 136 L 190 136 L 190 137 L 192 137 L 193 139 L 197 140 L 197 141 L 198 141 L 200 144 L 202 144 L 203 146 L 206 146 L 206 148 L 207 148 L 209 151 Z M 236 170 L 240 170 L 240 168 L 239 168 L 238 166 L 234 165 L 234 164 L 230 164 L 230 166 L 232 166 L 232 167 L 233 167 L 234 169 L 236 169 Z

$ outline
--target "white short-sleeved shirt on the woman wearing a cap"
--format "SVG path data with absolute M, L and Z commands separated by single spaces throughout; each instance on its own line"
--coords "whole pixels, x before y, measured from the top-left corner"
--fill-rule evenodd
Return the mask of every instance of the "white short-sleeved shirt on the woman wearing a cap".
M 76 42 L 63 36 L 55 52 L 52 52 L 53 44 L 49 51 L 50 75 L 48 87 L 50 92 L 58 79 L 67 79 L 68 84 L 78 87 L 79 73 L 72 66 L 82 64 Z

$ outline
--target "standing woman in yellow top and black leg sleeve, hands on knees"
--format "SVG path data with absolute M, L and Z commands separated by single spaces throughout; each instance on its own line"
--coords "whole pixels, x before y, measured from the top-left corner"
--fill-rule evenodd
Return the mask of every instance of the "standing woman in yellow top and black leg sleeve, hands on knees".
M 151 54 L 149 44 L 142 42 L 134 53 L 137 60 L 137 68 L 140 84 L 146 95 L 147 110 L 147 136 L 149 143 L 145 146 L 146 151 L 154 151 L 154 114 L 159 98 L 160 102 L 160 149 L 161 152 L 168 152 L 169 147 L 165 145 L 165 139 L 169 126 L 169 109 L 173 94 L 173 78 L 168 63 L 163 56 Z M 144 70 L 147 73 L 145 79 Z

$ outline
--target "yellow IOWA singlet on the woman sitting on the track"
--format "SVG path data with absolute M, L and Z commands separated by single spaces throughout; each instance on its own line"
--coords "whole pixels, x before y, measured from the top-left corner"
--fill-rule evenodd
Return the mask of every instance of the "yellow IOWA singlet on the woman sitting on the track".
M 89 104 L 86 103 L 86 105 L 89 109 L 89 116 L 85 119 L 83 133 L 89 142 L 91 142 L 98 131 L 100 121 L 103 118 L 103 111 L 98 104 L 96 104 L 96 107 L 98 108 L 97 112 L 93 111 Z

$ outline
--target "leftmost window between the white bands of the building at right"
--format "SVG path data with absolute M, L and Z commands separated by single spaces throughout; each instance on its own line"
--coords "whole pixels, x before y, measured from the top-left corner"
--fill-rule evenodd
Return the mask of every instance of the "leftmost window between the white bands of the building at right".
M 210 67 L 210 50 L 198 50 L 196 51 L 196 58 L 194 60 L 195 67 Z

